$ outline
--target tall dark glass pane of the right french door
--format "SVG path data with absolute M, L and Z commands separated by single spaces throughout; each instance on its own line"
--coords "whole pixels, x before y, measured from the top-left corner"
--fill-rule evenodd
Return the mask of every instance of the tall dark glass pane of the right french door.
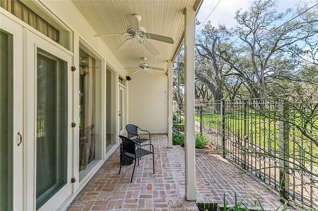
M 67 62 L 38 50 L 36 209 L 67 183 Z

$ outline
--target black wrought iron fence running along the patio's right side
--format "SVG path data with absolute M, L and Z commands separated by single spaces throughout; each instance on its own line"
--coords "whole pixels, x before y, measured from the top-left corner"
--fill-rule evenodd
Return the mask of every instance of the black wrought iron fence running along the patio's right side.
M 259 99 L 200 102 L 196 103 L 195 129 L 224 158 L 278 191 L 282 202 L 316 210 L 316 106 L 317 103 L 282 105 Z M 173 108 L 177 117 L 173 127 L 180 131 L 184 126 L 184 109 L 180 105 Z

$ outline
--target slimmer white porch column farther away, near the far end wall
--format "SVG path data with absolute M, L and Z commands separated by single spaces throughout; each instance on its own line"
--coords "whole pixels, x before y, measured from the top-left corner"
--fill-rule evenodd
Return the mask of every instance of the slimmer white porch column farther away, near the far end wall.
M 172 61 L 168 61 L 168 148 L 172 147 Z

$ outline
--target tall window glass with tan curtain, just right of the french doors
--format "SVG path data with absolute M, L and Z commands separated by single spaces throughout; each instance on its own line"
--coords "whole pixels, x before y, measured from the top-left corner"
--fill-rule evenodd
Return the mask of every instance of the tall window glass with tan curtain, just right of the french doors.
M 87 48 L 79 49 L 79 179 L 87 165 L 101 157 L 101 60 Z

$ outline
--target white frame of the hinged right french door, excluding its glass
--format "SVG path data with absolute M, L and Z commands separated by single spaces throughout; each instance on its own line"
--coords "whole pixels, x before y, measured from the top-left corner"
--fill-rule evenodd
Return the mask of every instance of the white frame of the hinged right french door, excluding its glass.
M 50 44 L 46 39 L 38 36 L 36 33 L 27 31 L 27 48 L 26 48 L 26 131 L 27 131 L 27 155 L 26 155 L 26 210 L 36 210 L 36 58 L 37 48 L 46 51 L 56 57 L 67 61 L 68 75 L 68 170 L 67 184 L 61 188 L 48 202 L 46 202 L 39 210 L 56 210 L 71 194 L 73 177 L 73 128 L 71 122 L 73 120 L 73 76 L 71 71 L 72 55 L 62 51 L 57 46 Z

